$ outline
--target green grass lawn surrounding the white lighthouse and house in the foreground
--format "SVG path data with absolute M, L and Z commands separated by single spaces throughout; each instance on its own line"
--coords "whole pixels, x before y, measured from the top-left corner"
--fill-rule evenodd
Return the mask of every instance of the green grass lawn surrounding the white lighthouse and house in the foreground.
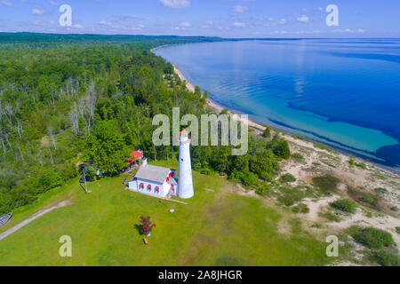
M 177 168 L 174 163 L 169 166 Z M 84 193 L 76 181 L 16 211 L 12 225 L 68 194 L 74 202 L 0 241 L 0 265 L 324 265 L 328 262 L 326 244 L 303 231 L 298 220 L 289 222 L 292 233 L 277 233 L 281 213 L 266 207 L 262 199 L 223 191 L 228 183 L 223 178 L 194 172 L 195 197 L 184 205 L 124 190 L 124 177 L 107 177 L 91 183 L 90 194 Z M 206 191 L 205 187 L 215 192 Z M 172 208 L 174 213 L 169 212 Z M 141 215 L 150 216 L 156 223 L 148 246 L 134 227 Z M 72 257 L 59 256 L 61 235 L 71 236 Z

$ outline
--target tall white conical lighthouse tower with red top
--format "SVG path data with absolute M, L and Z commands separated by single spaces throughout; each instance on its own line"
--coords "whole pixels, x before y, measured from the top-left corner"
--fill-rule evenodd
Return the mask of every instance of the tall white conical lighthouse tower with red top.
M 188 131 L 180 131 L 180 167 L 178 178 L 178 196 L 183 199 L 193 197 L 192 165 L 190 162 L 190 138 Z

